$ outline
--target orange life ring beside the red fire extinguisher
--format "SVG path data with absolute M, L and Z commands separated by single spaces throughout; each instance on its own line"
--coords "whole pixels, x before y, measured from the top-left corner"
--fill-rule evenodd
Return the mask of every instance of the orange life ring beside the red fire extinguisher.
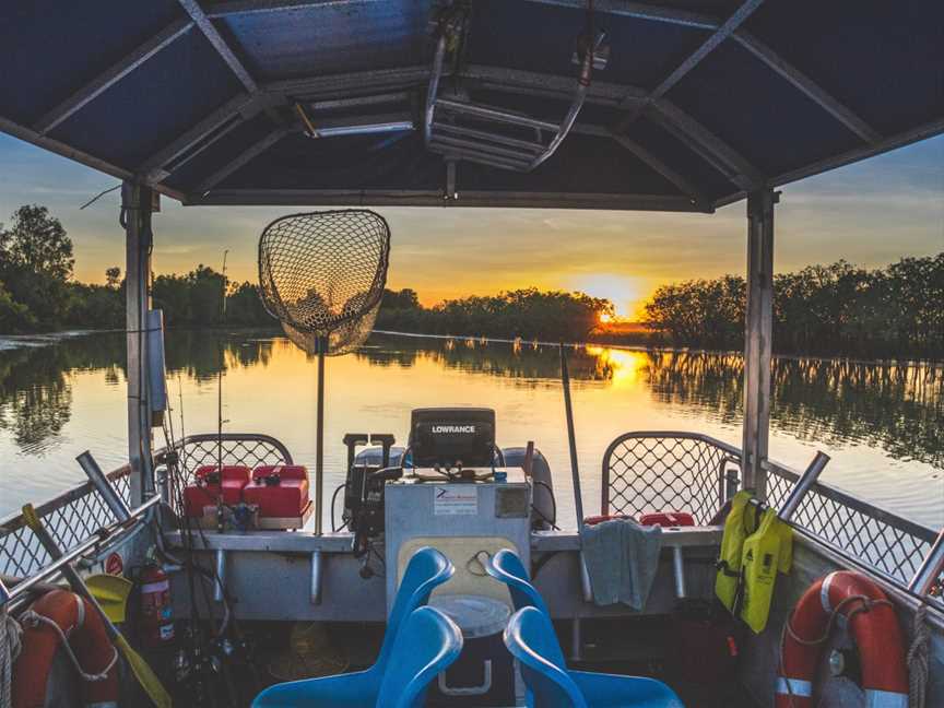
M 52 590 L 34 602 L 31 610 L 56 623 L 85 673 L 105 673 L 102 681 L 83 682 L 85 706 L 117 708 L 116 650 L 95 607 L 72 592 Z M 61 638 L 45 622 L 23 624 L 23 649 L 13 666 L 13 708 L 43 708 L 52 658 Z

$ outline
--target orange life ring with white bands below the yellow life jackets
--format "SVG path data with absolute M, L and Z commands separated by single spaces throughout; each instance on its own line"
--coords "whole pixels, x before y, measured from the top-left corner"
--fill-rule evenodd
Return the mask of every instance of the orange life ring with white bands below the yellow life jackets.
M 872 580 L 838 570 L 819 578 L 793 609 L 784 633 L 777 708 L 810 708 L 821 645 L 813 642 L 829 629 L 830 616 L 840 613 L 859 648 L 862 688 L 870 708 L 908 708 L 908 669 L 898 617 L 888 598 Z

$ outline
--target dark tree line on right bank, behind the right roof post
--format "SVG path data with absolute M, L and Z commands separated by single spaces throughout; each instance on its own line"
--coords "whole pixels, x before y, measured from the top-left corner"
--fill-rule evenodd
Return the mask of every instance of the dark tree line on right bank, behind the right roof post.
M 740 350 L 746 286 L 724 275 L 662 285 L 645 324 L 661 343 Z M 840 260 L 774 276 L 774 350 L 857 358 L 944 356 L 944 252 L 868 270 Z

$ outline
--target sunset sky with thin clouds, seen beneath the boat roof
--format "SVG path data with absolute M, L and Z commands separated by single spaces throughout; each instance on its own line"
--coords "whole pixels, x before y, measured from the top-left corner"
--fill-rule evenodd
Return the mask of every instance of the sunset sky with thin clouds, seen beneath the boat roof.
M 72 238 L 74 276 L 104 283 L 123 272 L 118 194 L 81 204 L 117 179 L 8 135 L 0 135 L 0 223 L 22 204 L 49 208 Z M 775 271 L 843 259 L 880 268 L 944 247 L 944 137 L 781 188 Z M 155 274 L 198 264 L 256 281 L 256 243 L 286 208 L 191 206 L 162 198 L 155 215 Z M 744 202 L 713 215 L 579 210 L 380 208 L 393 235 L 387 286 L 416 291 L 424 306 L 467 295 L 534 286 L 585 292 L 637 321 L 660 284 L 744 270 Z M 514 232 L 514 236 L 504 234 Z M 547 233 L 564 234 L 548 243 Z M 892 234 L 892 237 L 889 237 Z M 500 239 L 502 248 L 479 247 Z M 624 240 L 625 239 L 625 240 Z M 472 247 L 470 248 L 470 244 Z

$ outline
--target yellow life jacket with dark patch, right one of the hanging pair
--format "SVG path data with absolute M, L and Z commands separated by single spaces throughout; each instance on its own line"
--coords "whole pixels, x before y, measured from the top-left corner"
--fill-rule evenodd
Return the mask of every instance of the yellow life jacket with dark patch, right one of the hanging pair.
M 741 555 L 743 592 L 738 614 L 756 634 L 764 632 L 777 573 L 789 573 L 793 557 L 793 530 L 767 509 L 760 526 L 744 540 Z

